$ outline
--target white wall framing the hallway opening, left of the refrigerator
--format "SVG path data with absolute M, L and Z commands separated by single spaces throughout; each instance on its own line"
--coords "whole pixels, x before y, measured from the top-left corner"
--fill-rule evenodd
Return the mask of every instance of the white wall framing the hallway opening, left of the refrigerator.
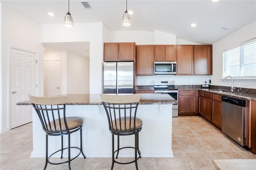
M 90 42 L 90 94 L 100 94 L 102 91 L 102 25 L 102 23 L 75 23 L 72 29 L 64 27 L 63 24 L 41 25 L 42 43 Z

